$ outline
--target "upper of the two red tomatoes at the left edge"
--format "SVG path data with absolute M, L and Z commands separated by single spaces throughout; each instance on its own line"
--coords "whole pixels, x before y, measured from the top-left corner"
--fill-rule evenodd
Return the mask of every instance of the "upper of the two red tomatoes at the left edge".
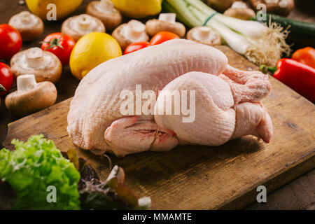
M 9 59 L 22 47 L 22 37 L 18 30 L 7 24 L 0 25 L 0 59 Z

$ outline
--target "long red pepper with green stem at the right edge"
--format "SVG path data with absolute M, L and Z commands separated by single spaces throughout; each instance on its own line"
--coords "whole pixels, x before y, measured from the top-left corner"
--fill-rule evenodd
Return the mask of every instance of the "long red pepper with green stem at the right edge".
M 261 66 L 264 71 L 266 66 Z M 315 69 L 306 64 L 302 64 L 293 59 L 283 58 L 277 62 L 273 68 L 267 68 L 271 71 L 274 78 L 288 85 L 303 97 L 315 102 Z

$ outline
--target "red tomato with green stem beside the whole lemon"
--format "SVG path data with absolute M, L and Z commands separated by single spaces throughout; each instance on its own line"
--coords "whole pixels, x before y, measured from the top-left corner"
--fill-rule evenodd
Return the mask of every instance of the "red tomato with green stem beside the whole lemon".
M 76 44 L 71 36 L 62 33 L 49 34 L 41 43 L 41 49 L 56 55 L 62 65 L 68 65 L 71 51 Z

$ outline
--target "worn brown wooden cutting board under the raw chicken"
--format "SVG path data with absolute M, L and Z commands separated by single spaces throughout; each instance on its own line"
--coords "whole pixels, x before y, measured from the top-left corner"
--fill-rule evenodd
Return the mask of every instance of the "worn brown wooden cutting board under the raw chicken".
M 238 69 L 257 69 L 225 46 L 229 63 Z M 256 200 L 256 188 L 267 193 L 315 167 L 315 106 L 271 77 L 272 92 L 263 102 L 274 123 L 269 144 L 255 137 L 229 141 L 218 147 L 179 146 L 167 153 L 144 152 L 116 158 L 126 172 L 126 185 L 137 196 L 151 196 L 153 209 L 241 209 Z M 44 134 L 57 148 L 76 148 L 94 162 L 102 179 L 109 174 L 106 158 L 73 145 L 66 132 L 71 99 L 8 125 L 3 146 L 13 138 L 27 140 Z

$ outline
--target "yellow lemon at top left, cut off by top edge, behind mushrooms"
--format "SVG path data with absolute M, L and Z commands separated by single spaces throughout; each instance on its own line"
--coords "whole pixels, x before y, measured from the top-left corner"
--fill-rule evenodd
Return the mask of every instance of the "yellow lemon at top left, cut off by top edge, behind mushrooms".
M 65 18 L 73 13 L 83 0 L 26 0 L 27 7 L 31 13 L 38 15 L 43 20 L 47 20 L 47 15 L 53 15 L 52 10 L 56 10 L 57 20 Z M 52 5 L 52 4 L 55 4 Z

